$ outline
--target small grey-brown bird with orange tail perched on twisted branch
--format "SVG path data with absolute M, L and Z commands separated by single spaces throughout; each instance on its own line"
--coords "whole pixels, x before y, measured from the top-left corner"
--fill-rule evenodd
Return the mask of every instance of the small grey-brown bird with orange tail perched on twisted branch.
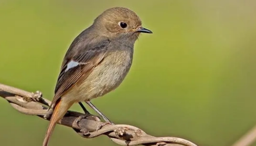
M 90 101 L 122 83 L 131 68 L 134 44 L 141 33 L 151 34 L 152 31 L 142 27 L 135 12 L 125 7 L 112 7 L 74 39 L 61 65 L 43 146 L 48 145 L 55 125 L 75 103 L 82 106 L 81 102 L 85 102 L 106 122 L 113 124 Z

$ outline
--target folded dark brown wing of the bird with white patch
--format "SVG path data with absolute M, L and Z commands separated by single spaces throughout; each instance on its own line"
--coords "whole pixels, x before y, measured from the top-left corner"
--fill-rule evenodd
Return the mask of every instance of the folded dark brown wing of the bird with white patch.
M 71 89 L 79 79 L 85 79 L 92 70 L 103 60 L 107 52 L 107 46 L 110 41 L 103 40 L 89 45 L 81 45 L 79 49 L 70 48 L 65 56 L 61 67 L 56 88 L 50 108 L 57 102 L 68 90 Z M 71 45 L 71 47 L 79 45 Z M 75 51 L 75 53 L 74 53 Z M 70 56 L 69 56 L 70 55 Z M 49 108 L 49 109 L 50 109 Z

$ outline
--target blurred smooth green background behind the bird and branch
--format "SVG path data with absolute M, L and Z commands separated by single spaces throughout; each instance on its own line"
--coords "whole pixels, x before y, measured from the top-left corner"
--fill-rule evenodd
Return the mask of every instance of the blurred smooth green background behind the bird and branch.
M 73 39 L 116 6 L 153 34 L 121 86 L 92 101 L 108 118 L 199 146 L 230 146 L 256 124 L 255 0 L 0 0 L 0 83 L 52 99 Z M 47 121 L 1 98 L 0 119 L 0 146 L 42 145 Z M 50 146 L 117 145 L 57 125 Z

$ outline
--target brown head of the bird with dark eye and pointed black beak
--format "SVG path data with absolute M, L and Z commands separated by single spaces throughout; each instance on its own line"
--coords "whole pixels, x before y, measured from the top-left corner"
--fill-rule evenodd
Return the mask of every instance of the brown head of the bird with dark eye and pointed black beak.
M 93 25 L 108 37 L 137 40 L 141 33 L 149 33 L 135 12 L 124 7 L 113 7 L 100 14 Z

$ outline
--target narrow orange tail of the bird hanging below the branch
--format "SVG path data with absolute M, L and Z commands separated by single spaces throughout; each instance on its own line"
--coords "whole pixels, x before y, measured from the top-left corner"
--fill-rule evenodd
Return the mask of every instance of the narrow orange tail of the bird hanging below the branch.
M 62 117 L 61 114 L 60 114 L 61 102 L 62 102 L 61 100 L 58 100 L 55 104 L 53 113 L 52 113 L 51 118 L 50 118 L 50 124 L 48 125 L 45 137 L 43 139 L 43 146 L 47 146 L 48 141 L 50 139 L 50 136 L 53 132 L 53 129 L 54 129 L 55 125 L 57 124 L 58 120 L 60 120 L 60 118 Z

